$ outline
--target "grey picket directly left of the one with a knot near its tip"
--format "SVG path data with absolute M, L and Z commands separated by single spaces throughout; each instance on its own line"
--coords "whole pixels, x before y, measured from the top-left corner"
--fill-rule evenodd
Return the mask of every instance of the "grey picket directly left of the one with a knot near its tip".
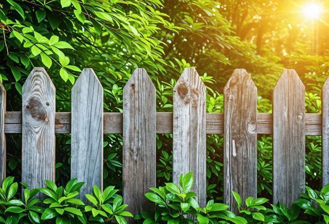
M 155 144 L 155 87 L 144 69 L 136 69 L 123 89 L 123 201 L 133 214 L 154 209 L 144 194 L 156 186 Z

